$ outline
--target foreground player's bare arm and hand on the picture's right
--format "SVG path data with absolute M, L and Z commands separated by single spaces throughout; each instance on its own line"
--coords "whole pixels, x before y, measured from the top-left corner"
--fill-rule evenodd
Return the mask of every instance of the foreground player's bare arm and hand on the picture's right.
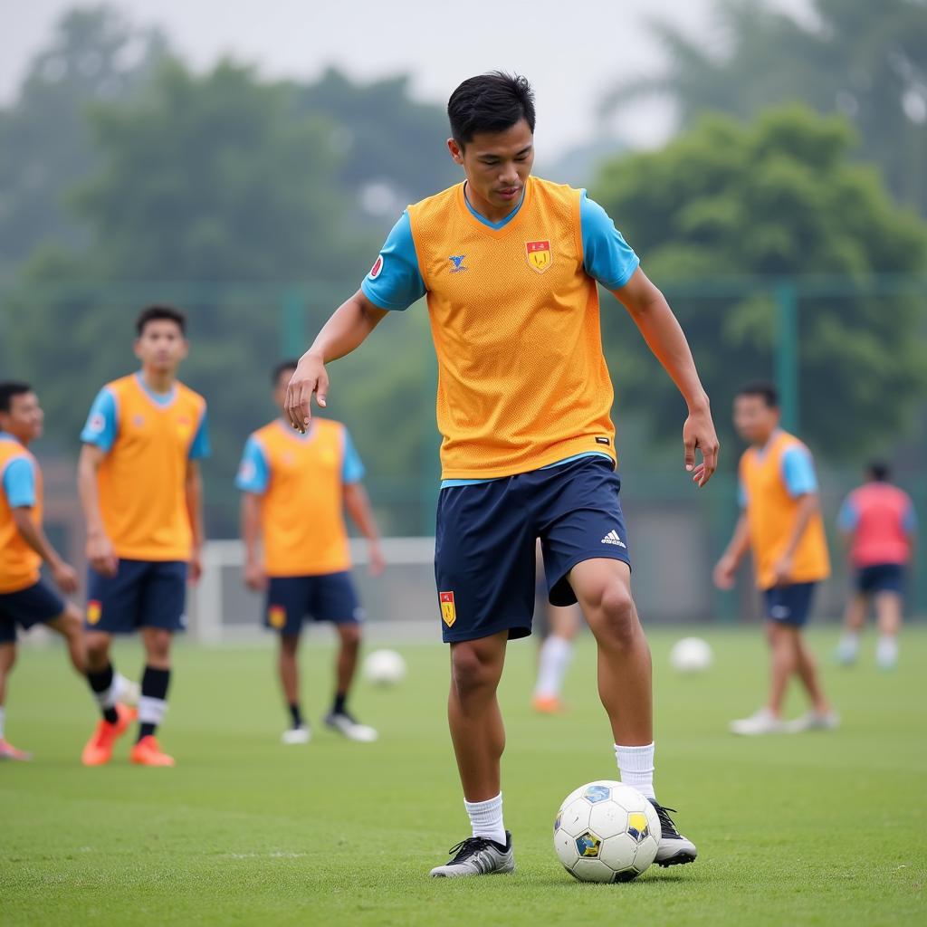
M 699 380 L 692 351 L 682 328 L 669 308 L 667 299 L 638 268 L 625 286 L 613 291 L 634 324 L 638 326 L 656 359 L 679 388 L 689 407 L 689 417 L 682 426 L 685 467 L 700 487 L 717 469 L 718 441 L 711 419 L 708 395 Z M 702 463 L 695 464 L 695 450 L 702 451 Z

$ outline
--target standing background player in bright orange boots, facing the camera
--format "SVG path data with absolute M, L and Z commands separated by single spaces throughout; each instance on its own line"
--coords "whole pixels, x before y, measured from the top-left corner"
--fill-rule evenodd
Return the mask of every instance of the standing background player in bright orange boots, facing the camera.
M 78 468 L 90 563 L 86 615 L 90 684 L 103 717 L 83 749 L 86 766 L 108 763 L 128 719 L 114 705 L 114 634 L 140 630 L 146 665 L 138 738 L 130 758 L 173 766 L 155 737 L 167 710 L 171 637 L 184 629 L 186 581 L 200 573 L 202 482 L 209 454 L 206 401 L 184 387 L 184 313 L 151 306 L 136 323 L 142 369 L 100 390 L 81 433 Z

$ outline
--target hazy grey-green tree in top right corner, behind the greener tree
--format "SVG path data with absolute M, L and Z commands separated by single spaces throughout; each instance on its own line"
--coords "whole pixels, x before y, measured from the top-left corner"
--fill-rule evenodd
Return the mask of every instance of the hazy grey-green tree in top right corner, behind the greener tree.
M 811 12 L 798 22 L 766 0 L 723 0 L 719 55 L 671 23 L 656 23 L 667 69 L 619 85 L 605 108 L 668 95 L 691 127 L 706 109 L 750 119 L 769 105 L 804 100 L 853 121 L 859 156 L 880 165 L 895 197 L 927 214 L 927 3 L 813 0 Z

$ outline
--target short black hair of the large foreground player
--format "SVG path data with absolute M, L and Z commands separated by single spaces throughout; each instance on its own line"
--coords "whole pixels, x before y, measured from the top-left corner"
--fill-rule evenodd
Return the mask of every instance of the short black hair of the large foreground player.
M 489 71 L 468 78 L 448 100 L 451 135 L 462 148 L 478 132 L 504 132 L 527 121 L 534 132 L 534 91 L 527 77 Z

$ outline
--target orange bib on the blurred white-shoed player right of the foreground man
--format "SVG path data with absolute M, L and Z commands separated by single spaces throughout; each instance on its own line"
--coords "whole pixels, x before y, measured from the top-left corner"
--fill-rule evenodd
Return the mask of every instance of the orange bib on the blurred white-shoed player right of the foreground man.
M 750 448 L 741 458 L 740 479 L 750 527 L 756 585 L 764 590 L 775 584 L 773 568 L 789 542 L 798 511 L 799 492 L 790 491 L 785 466 L 787 456 L 796 453 L 805 455 L 810 466 L 810 453 L 805 445 L 798 438 L 777 431 L 765 448 Z M 813 470 L 811 474 L 813 478 Z M 798 489 L 814 491 L 817 485 L 807 483 Z M 811 516 L 798 542 L 793 564 L 790 583 L 817 582 L 831 575 L 824 521 L 819 512 Z

